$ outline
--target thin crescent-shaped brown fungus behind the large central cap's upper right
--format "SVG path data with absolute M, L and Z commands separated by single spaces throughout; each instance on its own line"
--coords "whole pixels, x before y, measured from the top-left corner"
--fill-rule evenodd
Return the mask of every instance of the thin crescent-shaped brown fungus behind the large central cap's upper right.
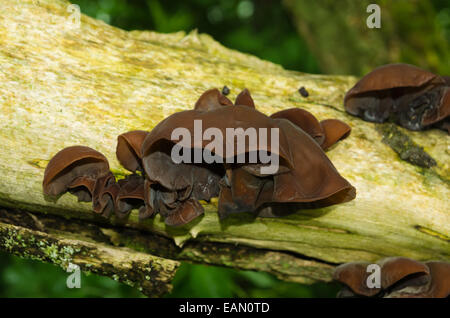
M 325 140 L 325 133 L 319 121 L 309 111 L 301 108 L 289 108 L 270 115 L 271 118 L 284 118 L 303 129 L 308 135 L 321 145 Z

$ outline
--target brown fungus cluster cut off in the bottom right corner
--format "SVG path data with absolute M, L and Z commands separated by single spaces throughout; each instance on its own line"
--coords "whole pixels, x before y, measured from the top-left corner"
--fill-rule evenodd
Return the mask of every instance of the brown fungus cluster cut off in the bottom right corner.
M 379 260 L 379 287 L 374 283 L 375 271 L 366 262 L 340 265 L 333 279 L 344 284 L 340 298 L 445 298 L 450 296 L 450 263 L 418 262 L 405 257 Z M 370 284 L 369 282 L 370 281 Z

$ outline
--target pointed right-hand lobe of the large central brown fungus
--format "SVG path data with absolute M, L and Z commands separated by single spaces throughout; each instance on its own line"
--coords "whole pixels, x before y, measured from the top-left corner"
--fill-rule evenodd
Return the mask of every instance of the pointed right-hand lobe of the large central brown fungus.
M 267 204 L 290 202 L 323 207 L 355 198 L 355 188 L 339 175 L 311 136 L 287 119 L 275 121 L 290 140 L 293 168 L 271 176 L 262 176 L 257 168 L 251 168 L 259 165 L 232 168 L 226 184 L 221 185 L 221 218 L 233 213 L 253 212 Z M 276 216 L 270 207 L 258 215 Z

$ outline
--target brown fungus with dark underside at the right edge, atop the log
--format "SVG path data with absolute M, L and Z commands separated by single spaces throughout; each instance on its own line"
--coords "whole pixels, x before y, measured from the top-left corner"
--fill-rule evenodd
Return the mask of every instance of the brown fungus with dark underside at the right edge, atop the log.
M 450 80 L 409 64 L 388 64 L 365 75 L 345 95 L 348 113 L 395 122 L 410 130 L 450 133 Z

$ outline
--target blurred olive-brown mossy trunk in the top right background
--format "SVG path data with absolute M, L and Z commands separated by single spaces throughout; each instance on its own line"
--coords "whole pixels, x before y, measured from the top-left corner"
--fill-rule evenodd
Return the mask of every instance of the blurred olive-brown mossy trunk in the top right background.
M 327 74 L 363 75 L 388 63 L 450 73 L 450 2 L 423 0 L 284 0 L 299 34 Z M 370 4 L 380 28 L 369 28 Z

